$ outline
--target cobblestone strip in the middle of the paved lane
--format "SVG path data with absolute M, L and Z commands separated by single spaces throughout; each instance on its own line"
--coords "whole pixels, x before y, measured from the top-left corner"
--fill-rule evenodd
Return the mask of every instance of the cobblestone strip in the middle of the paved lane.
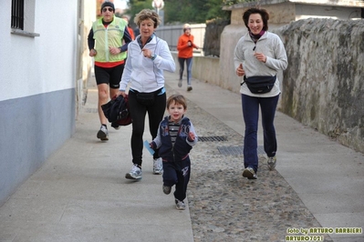
M 187 196 L 195 242 L 286 241 L 286 236 L 303 236 L 288 234 L 288 228 L 321 227 L 286 180 L 268 170 L 264 155 L 259 157 L 258 179 L 248 180 L 242 176 L 243 155 L 220 154 L 219 147 L 242 146 L 243 136 L 192 102 L 186 116 L 198 136 L 226 137 L 199 141 L 191 152 Z M 332 241 L 328 235 L 317 236 Z

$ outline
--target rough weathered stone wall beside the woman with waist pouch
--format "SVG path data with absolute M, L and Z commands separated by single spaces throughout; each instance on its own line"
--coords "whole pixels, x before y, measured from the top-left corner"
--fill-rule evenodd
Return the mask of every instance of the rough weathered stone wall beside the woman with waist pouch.
M 281 110 L 364 152 L 364 20 L 311 18 L 278 32 L 289 65 Z

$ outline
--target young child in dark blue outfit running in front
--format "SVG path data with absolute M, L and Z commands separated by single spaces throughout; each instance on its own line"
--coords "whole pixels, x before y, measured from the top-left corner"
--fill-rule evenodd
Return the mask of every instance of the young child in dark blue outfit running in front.
M 174 201 L 178 210 L 186 208 L 187 185 L 190 181 L 190 150 L 197 143 L 197 135 L 190 119 L 184 116 L 187 110 L 182 95 L 172 95 L 167 99 L 167 111 L 161 121 L 157 136 L 150 143 L 151 148 L 159 150 L 163 162 L 163 193 L 170 194 L 175 185 Z

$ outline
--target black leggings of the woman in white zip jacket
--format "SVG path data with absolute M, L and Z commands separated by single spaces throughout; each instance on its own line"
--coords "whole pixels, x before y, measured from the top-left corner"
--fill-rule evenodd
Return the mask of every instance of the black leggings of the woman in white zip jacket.
M 160 93 L 158 90 L 157 93 Z M 143 134 L 145 126 L 145 116 L 148 113 L 149 127 L 151 132 L 151 140 L 157 136 L 158 127 L 161 119 L 164 116 L 166 108 L 166 93 L 155 96 L 155 102 L 151 106 L 141 105 L 137 101 L 137 94 L 130 91 L 128 96 L 130 116 L 132 119 L 132 133 L 131 133 L 131 155 L 132 163 L 141 166 L 141 157 L 143 151 Z M 151 140 L 148 140 L 150 143 Z M 158 150 L 153 155 L 153 158 L 159 158 Z

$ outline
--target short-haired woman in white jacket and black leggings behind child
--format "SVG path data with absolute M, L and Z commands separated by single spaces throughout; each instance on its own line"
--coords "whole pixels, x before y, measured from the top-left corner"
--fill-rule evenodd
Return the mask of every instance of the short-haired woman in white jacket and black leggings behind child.
M 163 71 L 174 72 L 176 66 L 167 42 L 154 34 L 161 23 L 159 15 L 151 9 L 143 9 L 135 16 L 134 23 L 139 26 L 140 35 L 130 42 L 118 96 L 127 96 L 125 90 L 130 86 L 128 102 L 132 119 L 133 166 L 125 177 L 140 180 L 145 116 L 148 113 L 151 139 L 154 139 L 166 108 Z M 157 151 L 153 155 L 153 174 L 161 175 L 162 172 Z

